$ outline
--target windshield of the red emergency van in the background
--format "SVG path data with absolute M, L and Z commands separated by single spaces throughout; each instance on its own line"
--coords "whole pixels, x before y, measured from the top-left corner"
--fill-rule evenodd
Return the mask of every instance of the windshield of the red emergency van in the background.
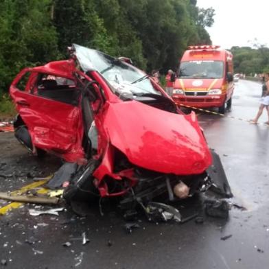
M 180 78 L 222 78 L 222 61 L 217 60 L 194 60 L 181 62 L 179 68 Z

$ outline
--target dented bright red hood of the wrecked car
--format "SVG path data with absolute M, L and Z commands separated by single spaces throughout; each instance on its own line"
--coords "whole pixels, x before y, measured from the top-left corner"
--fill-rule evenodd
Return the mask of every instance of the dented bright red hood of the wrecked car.
M 139 167 L 189 175 L 200 174 L 211 165 L 194 113 L 178 115 L 135 100 L 110 103 L 104 128 L 110 143 Z

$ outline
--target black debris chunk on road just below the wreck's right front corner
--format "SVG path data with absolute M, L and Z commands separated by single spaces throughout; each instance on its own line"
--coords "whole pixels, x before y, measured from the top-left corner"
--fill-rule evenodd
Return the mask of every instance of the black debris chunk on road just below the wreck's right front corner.
M 205 200 L 207 215 L 215 218 L 228 218 L 230 206 L 226 200 Z

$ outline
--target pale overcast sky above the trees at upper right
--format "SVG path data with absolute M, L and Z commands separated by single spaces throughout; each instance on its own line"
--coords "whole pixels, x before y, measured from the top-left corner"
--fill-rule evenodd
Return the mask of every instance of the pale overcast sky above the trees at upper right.
M 269 46 L 269 0 L 198 0 L 197 5 L 215 10 L 215 23 L 207 28 L 213 45 L 250 46 L 257 38 Z

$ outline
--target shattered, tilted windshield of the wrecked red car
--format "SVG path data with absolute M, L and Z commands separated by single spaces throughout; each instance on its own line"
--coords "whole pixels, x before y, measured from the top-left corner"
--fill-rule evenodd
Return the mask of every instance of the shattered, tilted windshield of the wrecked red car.
M 101 73 L 120 96 L 136 97 L 147 93 L 161 95 L 143 71 L 95 49 L 73 46 L 83 71 L 96 70 Z

